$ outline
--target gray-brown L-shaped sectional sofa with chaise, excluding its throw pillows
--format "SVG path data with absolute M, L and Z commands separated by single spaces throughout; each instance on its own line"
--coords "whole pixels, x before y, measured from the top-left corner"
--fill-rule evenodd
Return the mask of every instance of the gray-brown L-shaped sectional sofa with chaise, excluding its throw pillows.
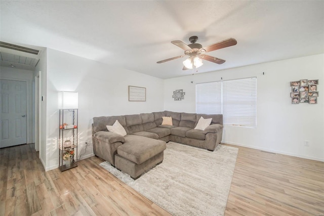
M 161 125 L 171 116 L 173 125 Z M 200 117 L 212 118 L 204 130 L 194 129 Z M 118 122 L 126 136 L 109 132 L 106 125 Z M 172 111 L 136 115 L 94 117 L 92 124 L 94 154 L 123 170 L 133 179 L 163 161 L 166 142 L 173 141 L 214 151 L 222 140 L 223 115 Z

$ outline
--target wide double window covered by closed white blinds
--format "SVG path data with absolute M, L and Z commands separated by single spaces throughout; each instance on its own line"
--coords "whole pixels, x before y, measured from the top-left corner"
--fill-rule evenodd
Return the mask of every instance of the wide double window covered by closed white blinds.
M 223 114 L 224 124 L 256 126 L 257 78 L 196 84 L 196 113 Z

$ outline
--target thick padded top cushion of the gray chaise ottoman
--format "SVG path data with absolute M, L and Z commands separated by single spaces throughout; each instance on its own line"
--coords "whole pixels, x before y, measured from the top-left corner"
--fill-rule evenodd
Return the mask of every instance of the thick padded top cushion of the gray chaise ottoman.
M 143 163 L 167 148 L 164 141 L 136 135 L 127 135 L 125 140 L 126 142 L 117 148 L 117 154 L 137 164 Z

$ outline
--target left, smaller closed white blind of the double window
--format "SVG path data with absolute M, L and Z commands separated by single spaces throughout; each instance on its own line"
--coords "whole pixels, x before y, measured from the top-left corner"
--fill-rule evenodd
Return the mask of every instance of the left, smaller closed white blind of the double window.
M 196 113 L 222 113 L 221 82 L 205 82 L 196 84 Z

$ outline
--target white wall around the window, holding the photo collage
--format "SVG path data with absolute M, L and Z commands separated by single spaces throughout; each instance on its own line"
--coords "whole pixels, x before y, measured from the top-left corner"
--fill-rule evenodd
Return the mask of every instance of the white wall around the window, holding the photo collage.
M 222 142 L 324 161 L 324 54 L 166 79 L 165 110 L 194 113 L 195 83 L 252 76 L 257 127 L 224 125 Z M 290 81 L 300 79 L 319 79 L 317 104 L 291 104 Z M 183 101 L 172 98 L 177 89 L 186 93 Z

